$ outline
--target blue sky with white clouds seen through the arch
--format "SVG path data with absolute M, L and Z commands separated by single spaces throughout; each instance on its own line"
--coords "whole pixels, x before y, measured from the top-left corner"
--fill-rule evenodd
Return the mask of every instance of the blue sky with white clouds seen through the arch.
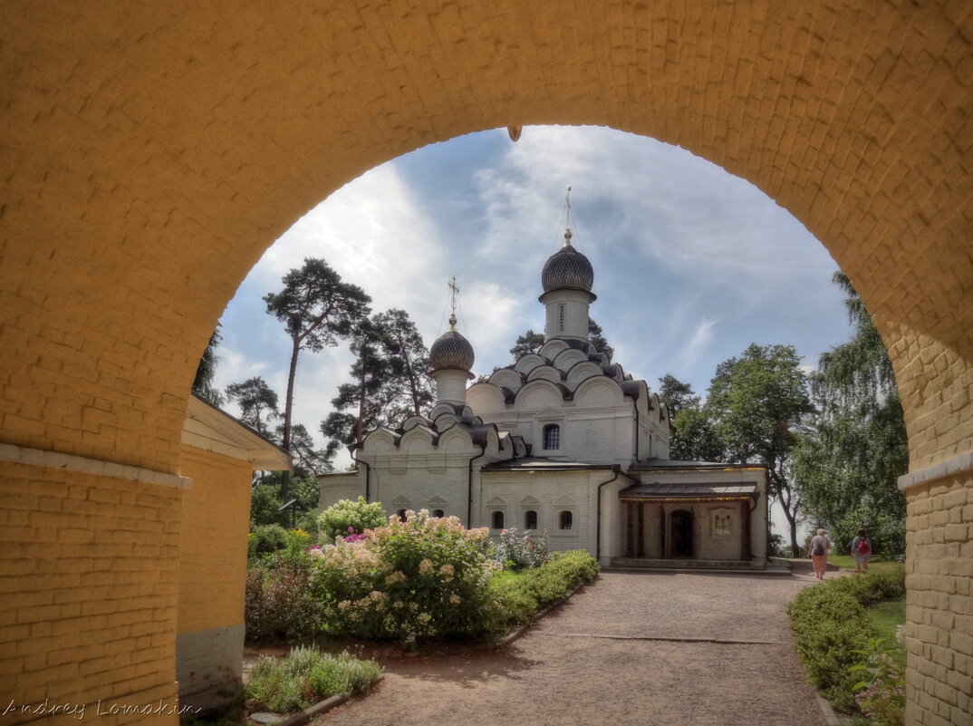
M 260 375 L 283 398 L 290 345 L 261 298 L 305 257 L 363 287 L 375 310 L 408 310 L 426 345 L 448 325 L 454 274 L 475 372 L 506 365 L 518 335 L 543 330 L 540 271 L 562 241 L 569 186 L 573 242 L 595 268 L 592 316 L 651 387 L 671 373 L 704 393 L 716 365 L 754 342 L 795 345 L 813 367 L 847 340 L 834 261 L 749 182 L 608 128 L 525 127 L 516 144 L 495 129 L 382 164 L 296 220 L 223 316 L 216 383 Z M 301 359 L 295 420 L 318 437 L 350 362 L 343 348 Z

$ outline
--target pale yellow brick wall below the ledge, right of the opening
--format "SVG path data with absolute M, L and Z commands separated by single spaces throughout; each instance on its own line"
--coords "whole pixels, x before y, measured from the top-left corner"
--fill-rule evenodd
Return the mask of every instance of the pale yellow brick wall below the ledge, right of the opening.
M 908 492 L 910 723 L 973 724 L 973 476 Z

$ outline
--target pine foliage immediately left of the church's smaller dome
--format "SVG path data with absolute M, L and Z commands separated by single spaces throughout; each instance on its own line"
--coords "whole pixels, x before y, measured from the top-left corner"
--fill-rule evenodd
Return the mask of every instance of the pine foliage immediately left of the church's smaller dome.
M 394 397 L 385 411 L 385 419 L 398 421 L 420 416 L 435 399 L 429 378 L 429 351 L 415 328 L 409 313 L 388 309 L 375 316 L 385 336 L 395 344 L 390 373 L 394 377 Z

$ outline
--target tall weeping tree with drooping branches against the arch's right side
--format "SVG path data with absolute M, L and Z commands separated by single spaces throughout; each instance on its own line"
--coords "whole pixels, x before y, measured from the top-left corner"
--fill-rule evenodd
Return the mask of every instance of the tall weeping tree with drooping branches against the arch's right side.
M 811 519 L 847 552 L 858 528 L 877 554 L 905 548 L 905 498 L 898 477 L 909 452 L 891 361 L 872 316 L 843 272 L 852 339 L 821 355 L 811 376 L 819 415 L 794 456 L 795 482 Z

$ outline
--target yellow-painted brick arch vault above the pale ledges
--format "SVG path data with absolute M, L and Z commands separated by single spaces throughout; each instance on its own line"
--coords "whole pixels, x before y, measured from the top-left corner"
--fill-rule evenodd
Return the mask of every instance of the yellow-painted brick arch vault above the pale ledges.
M 919 5 L 10 4 L 0 444 L 177 473 L 209 333 L 312 204 L 462 133 L 595 124 L 721 164 L 825 244 L 890 347 L 917 496 L 961 507 L 973 16 Z M 968 529 L 930 543 L 958 557 Z

